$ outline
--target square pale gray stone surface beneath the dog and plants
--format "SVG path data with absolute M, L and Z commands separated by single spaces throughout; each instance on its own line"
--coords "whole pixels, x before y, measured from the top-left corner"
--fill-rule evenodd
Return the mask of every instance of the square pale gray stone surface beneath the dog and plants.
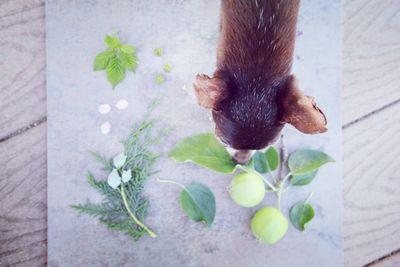
M 146 193 L 151 199 L 147 224 L 157 239 L 133 243 L 107 230 L 93 218 L 78 215 L 68 205 L 98 200 L 88 187 L 87 170 L 99 177 L 97 165 L 87 154 L 96 150 L 112 155 L 131 124 L 140 120 L 154 98 L 162 104 L 155 116 L 175 130 L 159 146 L 167 152 L 184 136 L 211 131 L 207 110 L 197 106 L 191 84 L 196 73 L 211 73 L 215 66 L 218 37 L 217 1 L 47 1 L 48 76 L 48 260 L 50 266 L 340 266 L 341 246 L 341 128 L 340 128 L 340 3 L 304 1 L 299 18 L 299 37 L 293 72 L 309 95 L 316 97 L 329 120 L 329 132 L 306 136 L 286 127 L 289 150 L 324 149 L 337 163 L 324 167 L 306 188 L 291 188 L 283 196 L 283 211 L 315 191 L 316 209 L 307 231 L 289 227 L 274 246 L 257 243 L 249 229 L 252 214 L 261 206 L 274 205 L 269 195 L 260 207 L 235 205 L 225 188 L 230 175 L 219 175 L 192 164 L 177 165 L 161 158 L 160 178 L 182 183 L 200 181 L 217 200 L 217 215 L 208 229 L 194 224 L 180 210 L 179 188 L 150 177 Z M 113 29 L 124 42 L 138 47 L 139 68 L 115 91 L 104 73 L 92 71 L 96 53 L 105 47 L 103 37 Z M 165 55 L 152 50 L 164 47 Z M 173 71 L 163 85 L 153 75 L 170 63 Z M 117 110 L 120 99 L 129 108 Z M 107 115 L 99 104 L 113 106 Z M 112 130 L 102 135 L 100 125 L 110 121 Z

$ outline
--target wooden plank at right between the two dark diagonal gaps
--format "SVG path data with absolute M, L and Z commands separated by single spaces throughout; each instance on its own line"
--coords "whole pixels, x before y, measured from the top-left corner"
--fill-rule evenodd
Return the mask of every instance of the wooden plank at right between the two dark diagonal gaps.
M 343 238 L 347 266 L 400 247 L 400 103 L 344 130 Z

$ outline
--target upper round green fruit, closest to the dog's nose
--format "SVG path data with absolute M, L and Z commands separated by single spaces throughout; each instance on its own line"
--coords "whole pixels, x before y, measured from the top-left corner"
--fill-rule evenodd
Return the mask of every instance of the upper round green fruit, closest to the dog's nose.
M 232 178 L 229 193 L 236 204 L 250 208 L 264 199 L 265 184 L 257 174 L 242 172 Z

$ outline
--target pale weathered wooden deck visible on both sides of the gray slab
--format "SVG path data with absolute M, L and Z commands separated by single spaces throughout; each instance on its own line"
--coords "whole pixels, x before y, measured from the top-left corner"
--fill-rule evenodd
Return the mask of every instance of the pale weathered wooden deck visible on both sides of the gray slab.
M 43 0 L 0 1 L 0 266 L 47 263 Z M 346 266 L 400 266 L 400 1 L 343 2 Z

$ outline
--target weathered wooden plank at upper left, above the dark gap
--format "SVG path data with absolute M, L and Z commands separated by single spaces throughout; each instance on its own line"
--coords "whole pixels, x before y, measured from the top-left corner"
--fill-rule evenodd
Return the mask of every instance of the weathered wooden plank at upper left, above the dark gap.
M 44 0 L 0 1 L 0 139 L 46 116 Z

